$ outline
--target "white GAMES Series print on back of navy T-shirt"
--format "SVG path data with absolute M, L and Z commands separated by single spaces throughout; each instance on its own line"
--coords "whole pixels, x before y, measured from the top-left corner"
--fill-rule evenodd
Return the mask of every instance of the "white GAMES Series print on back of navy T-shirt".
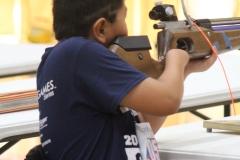
M 57 87 L 54 86 L 53 80 L 47 82 L 40 90 L 38 90 L 38 99 L 43 97 L 43 100 L 47 100 L 54 96 L 54 89 Z

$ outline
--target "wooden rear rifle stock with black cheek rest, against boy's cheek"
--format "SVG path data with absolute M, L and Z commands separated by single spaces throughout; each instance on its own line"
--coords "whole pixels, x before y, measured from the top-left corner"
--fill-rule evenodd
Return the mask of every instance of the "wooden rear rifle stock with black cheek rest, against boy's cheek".
M 164 70 L 164 62 L 154 60 L 147 36 L 117 37 L 109 49 L 134 68 L 152 78 L 158 78 Z

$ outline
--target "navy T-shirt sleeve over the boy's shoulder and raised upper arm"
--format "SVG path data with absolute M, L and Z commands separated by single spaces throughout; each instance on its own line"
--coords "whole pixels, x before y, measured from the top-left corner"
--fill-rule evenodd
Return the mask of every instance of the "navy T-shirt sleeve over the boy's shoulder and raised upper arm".
M 106 113 L 116 113 L 126 94 L 147 77 L 96 42 L 86 43 L 78 53 L 76 85 L 91 101 L 86 103 Z

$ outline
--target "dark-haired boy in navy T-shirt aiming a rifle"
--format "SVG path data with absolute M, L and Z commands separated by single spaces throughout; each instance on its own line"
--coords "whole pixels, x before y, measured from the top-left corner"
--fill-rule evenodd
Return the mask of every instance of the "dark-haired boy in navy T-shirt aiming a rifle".
M 127 35 L 126 14 L 124 0 L 53 1 L 59 43 L 46 49 L 37 72 L 48 159 L 140 159 L 138 117 L 155 133 L 177 112 L 184 79 L 216 60 L 190 62 L 185 51 L 170 50 L 163 74 L 148 77 L 107 49 Z

